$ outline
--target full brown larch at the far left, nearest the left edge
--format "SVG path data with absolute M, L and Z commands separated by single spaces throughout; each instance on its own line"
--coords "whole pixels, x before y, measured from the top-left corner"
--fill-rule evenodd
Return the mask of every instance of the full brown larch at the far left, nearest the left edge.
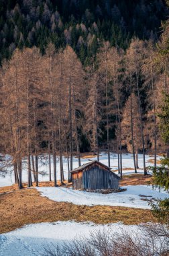
M 3 107 L 5 108 L 4 132 L 5 144 L 11 149 L 10 154 L 13 158 L 13 169 L 15 182 L 19 189 L 22 188 L 22 158 L 24 156 L 24 77 L 23 77 L 23 58 L 21 52 L 16 50 L 7 65 L 3 65 Z M 7 149 L 6 149 L 7 150 Z

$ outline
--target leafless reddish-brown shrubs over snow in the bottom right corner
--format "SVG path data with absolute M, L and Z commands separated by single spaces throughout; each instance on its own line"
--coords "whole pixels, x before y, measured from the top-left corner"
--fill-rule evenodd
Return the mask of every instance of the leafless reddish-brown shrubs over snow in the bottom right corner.
M 51 245 L 43 256 L 167 256 L 169 230 L 163 224 L 142 224 L 135 232 L 97 231 L 62 246 Z

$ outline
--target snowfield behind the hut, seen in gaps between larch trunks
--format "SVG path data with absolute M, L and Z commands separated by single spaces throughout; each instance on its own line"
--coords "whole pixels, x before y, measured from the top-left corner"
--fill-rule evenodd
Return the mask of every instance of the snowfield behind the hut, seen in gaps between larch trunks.
M 143 170 L 143 156 L 142 154 L 139 154 L 139 170 L 138 172 L 142 173 Z M 158 156 L 158 160 L 160 159 L 161 157 Z M 86 158 L 86 159 L 81 159 L 81 164 L 85 164 L 91 160 L 95 160 L 97 158 Z M 153 159 L 153 156 L 149 156 L 149 155 L 146 155 L 146 166 L 151 166 L 152 164 L 150 162 L 148 162 L 148 160 L 150 159 Z M 52 160 L 52 159 L 51 159 Z M 117 154 L 113 154 L 111 153 L 111 168 L 113 170 L 117 170 L 117 166 L 118 166 L 118 159 L 117 159 Z M 103 164 L 108 164 L 107 162 L 107 154 L 105 153 L 101 153 L 101 156 L 100 156 L 100 162 L 102 162 Z M 123 154 L 123 168 L 133 168 L 133 157 L 132 157 L 132 154 Z M 59 161 L 57 161 L 57 179 L 60 179 L 60 163 Z M 52 163 L 52 166 L 53 166 L 53 163 Z M 63 159 L 63 166 L 64 166 L 64 178 L 67 179 L 68 177 L 68 165 L 67 165 L 67 159 L 64 158 Z M 78 159 L 77 158 L 73 158 L 73 168 L 76 168 L 78 167 Z M 40 167 L 39 167 L 39 170 L 41 173 L 43 174 L 39 174 L 39 181 L 48 181 L 49 180 L 49 170 L 48 170 L 48 158 L 47 157 L 44 157 L 44 158 L 41 158 L 41 161 L 40 161 Z M 123 173 L 124 174 L 130 174 L 132 173 L 133 170 L 123 170 Z M 53 176 L 53 175 L 52 175 Z M 23 173 L 22 173 L 22 179 L 23 179 L 23 182 L 27 182 L 27 171 L 23 169 Z M 7 174 L 5 174 L 5 177 L 1 177 L 0 176 L 0 187 L 3 187 L 3 186 L 10 186 L 14 183 L 14 175 L 13 175 L 13 172 L 8 172 Z

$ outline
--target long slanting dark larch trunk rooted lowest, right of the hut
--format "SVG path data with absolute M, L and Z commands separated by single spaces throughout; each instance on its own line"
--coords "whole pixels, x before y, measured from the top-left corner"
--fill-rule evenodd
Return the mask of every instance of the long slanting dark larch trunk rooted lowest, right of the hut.
M 145 160 L 145 145 L 144 145 L 144 127 L 143 127 L 143 120 L 142 120 L 142 107 L 141 107 L 141 100 L 139 95 L 139 84 L 138 84 L 138 74 L 136 69 L 136 80 L 137 80 L 137 95 L 138 95 L 138 102 L 139 102 L 139 118 L 140 118 L 140 125 L 141 125 L 141 132 L 142 132 L 142 147 L 143 147 L 143 157 L 144 157 L 144 175 L 147 175 L 146 170 L 146 160 Z

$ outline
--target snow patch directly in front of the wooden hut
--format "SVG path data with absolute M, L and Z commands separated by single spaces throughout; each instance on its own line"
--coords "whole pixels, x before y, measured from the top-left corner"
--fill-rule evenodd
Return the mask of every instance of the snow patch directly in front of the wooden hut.
M 64 201 L 76 205 L 110 205 L 150 209 L 149 200 L 169 197 L 165 191 L 153 190 L 152 186 L 126 186 L 124 192 L 101 194 L 77 191 L 64 187 L 38 187 L 44 197 L 54 201 Z

